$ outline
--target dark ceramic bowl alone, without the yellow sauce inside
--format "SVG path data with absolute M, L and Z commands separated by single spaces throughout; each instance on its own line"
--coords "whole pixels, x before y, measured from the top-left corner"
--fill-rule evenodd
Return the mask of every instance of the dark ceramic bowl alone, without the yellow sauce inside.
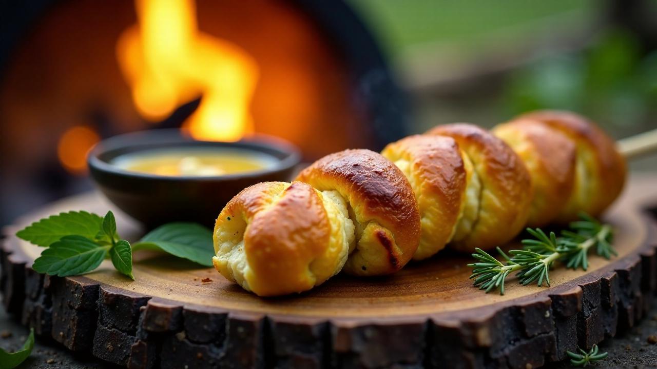
M 136 173 L 110 163 L 117 156 L 142 150 L 212 147 L 254 150 L 279 161 L 259 171 L 208 177 Z M 289 181 L 299 160 L 299 152 L 292 144 L 270 137 L 207 142 L 194 141 L 177 129 L 156 129 L 100 142 L 89 153 L 88 164 L 91 177 L 102 193 L 148 228 L 172 221 L 191 221 L 214 227 L 219 211 L 238 192 L 264 181 Z

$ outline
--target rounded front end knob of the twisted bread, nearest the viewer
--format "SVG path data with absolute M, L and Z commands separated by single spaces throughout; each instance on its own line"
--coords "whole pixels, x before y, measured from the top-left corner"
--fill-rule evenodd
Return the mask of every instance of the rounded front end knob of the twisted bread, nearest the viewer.
M 348 253 L 326 207 L 323 195 L 306 183 L 265 182 L 242 190 L 217 217 L 215 268 L 261 296 L 321 284 L 340 271 Z

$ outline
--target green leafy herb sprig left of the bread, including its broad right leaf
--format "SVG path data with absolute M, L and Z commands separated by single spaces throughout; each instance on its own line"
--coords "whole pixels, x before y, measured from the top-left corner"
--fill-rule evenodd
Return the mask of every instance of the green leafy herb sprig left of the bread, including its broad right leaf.
M 32 268 L 56 276 L 93 271 L 109 258 L 117 271 L 135 280 L 132 254 L 136 250 L 161 250 L 212 266 L 212 232 L 196 223 L 169 223 L 155 228 L 131 245 L 116 230 L 112 211 L 104 217 L 87 211 L 69 211 L 32 223 L 16 236 L 45 247 Z

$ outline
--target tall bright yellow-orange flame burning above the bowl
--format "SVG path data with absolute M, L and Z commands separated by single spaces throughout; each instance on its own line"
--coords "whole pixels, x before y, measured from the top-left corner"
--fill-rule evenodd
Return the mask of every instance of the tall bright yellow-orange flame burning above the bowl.
M 163 119 L 202 95 L 183 123 L 194 139 L 237 141 L 253 131 L 255 60 L 237 45 L 200 32 L 194 0 L 137 0 L 136 8 L 139 24 L 121 35 L 117 56 L 139 113 Z

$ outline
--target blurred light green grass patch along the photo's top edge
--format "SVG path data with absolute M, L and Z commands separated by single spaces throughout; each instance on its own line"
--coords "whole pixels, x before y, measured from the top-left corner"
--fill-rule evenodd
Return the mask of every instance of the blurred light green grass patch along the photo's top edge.
M 409 47 L 458 43 L 476 47 L 489 33 L 509 31 L 509 41 L 522 39 L 537 21 L 567 16 L 589 23 L 600 5 L 596 0 L 348 0 L 384 41 L 392 58 Z

